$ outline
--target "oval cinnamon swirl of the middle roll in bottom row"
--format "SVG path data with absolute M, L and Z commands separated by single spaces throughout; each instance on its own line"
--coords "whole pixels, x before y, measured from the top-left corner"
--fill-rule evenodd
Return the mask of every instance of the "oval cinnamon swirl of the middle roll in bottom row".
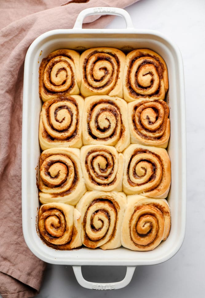
M 92 241 L 106 237 L 108 241 L 116 225 L 117 211 L 108 199 L 96 199 L 88 207 L 84 216 L 85 233 Z

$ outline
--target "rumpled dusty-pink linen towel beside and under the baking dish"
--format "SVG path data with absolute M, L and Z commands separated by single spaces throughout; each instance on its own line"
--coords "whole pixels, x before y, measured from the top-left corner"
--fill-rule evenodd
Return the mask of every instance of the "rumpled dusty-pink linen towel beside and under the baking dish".
M 138 0 L 0 0 L 0 293 L 33 297 L 45 263 L 26 246 L 21 214 L 22 87 L 26 51 L 42 33 L 73 28 L 81 10 L 94 6 L 124 8 Z M 112 16 L 91 16 L 87 28 L 103 28 Z

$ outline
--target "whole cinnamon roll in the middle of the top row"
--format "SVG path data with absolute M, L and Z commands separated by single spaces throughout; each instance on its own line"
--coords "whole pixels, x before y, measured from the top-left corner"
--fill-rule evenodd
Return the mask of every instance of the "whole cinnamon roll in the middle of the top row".
M 122 76 L 125 54 L 114 48 L 99 47 L 80 57 L 81 94 L 123 96 Z

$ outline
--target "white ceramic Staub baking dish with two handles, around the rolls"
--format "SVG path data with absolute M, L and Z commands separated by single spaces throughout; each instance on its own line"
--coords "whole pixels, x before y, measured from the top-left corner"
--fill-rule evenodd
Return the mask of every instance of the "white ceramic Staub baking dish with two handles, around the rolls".
M 83 19 L 91 14 L 116 14 L 125 19 L 126 29 L 82 29 Z M 36 167 L 40 156 L 38 125 L 42 102 L 38 95 L 38 68 L 50 52 L 69 48 L 84 50 L 92 47 L 116 47 L 123 51 L 149 48 L 156 51 L 167 63 L 170 106 L 171 137 L 168 153 L 171 159 L 171 189 L 168 202 L 171 208 L 171 231 L 168 239 L 153 251 L 137 252 L 120 247 L 114 250 L 82 248 L 57 251 L 47 247 L 36 230 L 39 207 L 36 186 Z M 82 286 L 93 289 L 118 289 L 132 279 L 137 265 L 152 265 L 170 259 L 179 250 L 185 234 L 186 217 L 186 128 L 183 62 L 178 47 L 160 33 L 133 28 L 129 14 L 120 8 L 96 7 L 83 10 L 73 27 L 53 30 L 39 36 L 26 54 L 23 90 L 22 123 L 22 225 L 30 250 L 48 263 L 73 265 L 75 276 Z M 96 284 L 86 281 L 82 265 L 127 266 L 124 280 L 117 283 Z M 117 270 L 117 268 L 116 268 Z

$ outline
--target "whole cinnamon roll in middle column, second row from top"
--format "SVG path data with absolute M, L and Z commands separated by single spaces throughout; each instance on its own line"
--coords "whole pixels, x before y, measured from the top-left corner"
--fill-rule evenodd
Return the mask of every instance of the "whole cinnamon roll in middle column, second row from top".
M 130 144 L 127 103 L 107 95 L 85 98 L 82 127 L 83 145 L 111 145 L 122 152 Z

